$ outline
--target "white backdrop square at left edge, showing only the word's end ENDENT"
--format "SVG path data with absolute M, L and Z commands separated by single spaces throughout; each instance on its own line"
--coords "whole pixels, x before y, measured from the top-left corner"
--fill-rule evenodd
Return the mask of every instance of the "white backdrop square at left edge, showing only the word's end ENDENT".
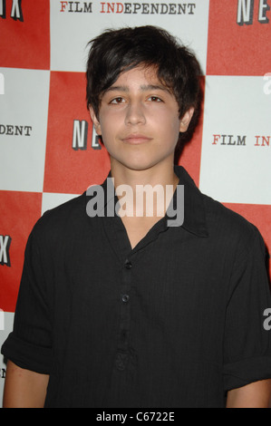
M 40 192 L 49 99 L 49 71 L 0 68 L 0 189 Z

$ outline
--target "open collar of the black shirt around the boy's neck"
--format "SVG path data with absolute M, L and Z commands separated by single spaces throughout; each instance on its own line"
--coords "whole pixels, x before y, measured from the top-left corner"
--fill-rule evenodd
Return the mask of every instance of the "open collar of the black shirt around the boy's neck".
M 198 237 L 208 237 L 208 227 L 206 223 L 206 211 L 203 195 L 197 188 L 193 179 L 190 178 L 186 169 L 184 169 L 182 166 L 174 166 L 174 172 L 179 178 L 178 185 L 184 186 L 184 220 L 182 225 L 176 228 L 184 228 Z M 111 171 L 107 176 L 107 179 L 109 178 L 111 178 Z M 117 216 L 115 213 L 115 205 L 118 201 L 118 197 L 114 191 L 111 179 L 107 179 L 105 179 L 102 183 L 104 203 L 100 212 L 98 212 L 98 216 L 101 214 L 101 212 L 103 212 L 102 216 L 106 216 L 109 211 L 111 211 L 111 216 Z M 177 208 L 176 192 L 177 191 L 174 192 L 173 196 L 174 209 Z M 105 210 L 106 214 L 104 213 Z M 169 217 L 166 215 L 165 224 L 167 218 Z

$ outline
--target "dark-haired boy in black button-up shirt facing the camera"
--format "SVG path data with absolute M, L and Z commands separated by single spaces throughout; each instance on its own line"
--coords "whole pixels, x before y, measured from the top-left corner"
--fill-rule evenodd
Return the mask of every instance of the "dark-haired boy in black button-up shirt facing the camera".
M 29 237 L 2 348 L 6 407 L 268 406 L 263 239 L 173 164 L 198 79 L 194 55 L 159 28 L 92 42 L 87 103 L 111 172 L 95 202 L 90 189 Z M 131 197 L 119 214 L 121 190 L 147 185 L 174 196 L 154 197 L 152 214 Z M 170 225 L 170 206 L 184 220 Z

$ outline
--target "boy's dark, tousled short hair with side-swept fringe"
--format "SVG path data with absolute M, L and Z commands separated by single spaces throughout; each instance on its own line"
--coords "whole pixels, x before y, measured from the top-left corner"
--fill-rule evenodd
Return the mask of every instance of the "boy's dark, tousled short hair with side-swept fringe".
M 194 107 L 194 124 L 198 121 L 201 100 L 198 60 L 166 30 L 152 25 L 108 29 L 88 45 L 91 49 L 86 71 L 86 101 L 97 118 L 103 92 L 122 72 L 144 65 L 155 67 L 160 82 L 174 94 L 179 104 L 179 118 Z

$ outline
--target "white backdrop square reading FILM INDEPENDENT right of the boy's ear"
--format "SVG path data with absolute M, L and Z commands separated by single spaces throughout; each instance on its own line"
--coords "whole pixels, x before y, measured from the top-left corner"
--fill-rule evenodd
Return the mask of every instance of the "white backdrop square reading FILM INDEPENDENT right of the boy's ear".
M 263 77 L 207 77 L 199 186 L 218 201 L 271 203 L 265 84 Z

